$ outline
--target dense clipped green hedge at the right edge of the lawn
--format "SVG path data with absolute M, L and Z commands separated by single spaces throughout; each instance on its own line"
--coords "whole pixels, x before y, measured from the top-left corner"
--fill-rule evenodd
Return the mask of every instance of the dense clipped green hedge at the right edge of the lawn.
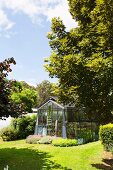
M 107 151 L 113 150 L 113 124 L 100 126 L 99 138 Z

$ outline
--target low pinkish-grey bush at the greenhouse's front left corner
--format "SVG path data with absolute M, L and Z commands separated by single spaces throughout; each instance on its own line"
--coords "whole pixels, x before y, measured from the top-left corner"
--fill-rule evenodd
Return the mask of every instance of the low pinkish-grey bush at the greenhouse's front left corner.
M 29 144 L 37 144 L 39 142 L 39 140 L 41 139 L 42 136 L 40 135 L 29 135 L 26 138 L 26 143 Z

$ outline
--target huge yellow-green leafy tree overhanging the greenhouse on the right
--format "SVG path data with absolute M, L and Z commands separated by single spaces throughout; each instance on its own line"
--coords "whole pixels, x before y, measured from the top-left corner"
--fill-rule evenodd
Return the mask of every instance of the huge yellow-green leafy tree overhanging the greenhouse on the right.
M 84 105 L 100 123 L 112 121 L 113 1 L 68 2 L 78 27 L 66 31 L 59 18 L 52 20 L 48 38 L 53 53 L 46 69 L 59 78 L 61 101 Z

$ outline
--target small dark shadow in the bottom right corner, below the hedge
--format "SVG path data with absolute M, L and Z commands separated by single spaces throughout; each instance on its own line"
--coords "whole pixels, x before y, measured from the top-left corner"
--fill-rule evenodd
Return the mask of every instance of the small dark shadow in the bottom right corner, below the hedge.
M 92 166 L 101 170 L 113 170 L 113 159 L 103 159 L 102 162 L 102 164 L 92 164 Z

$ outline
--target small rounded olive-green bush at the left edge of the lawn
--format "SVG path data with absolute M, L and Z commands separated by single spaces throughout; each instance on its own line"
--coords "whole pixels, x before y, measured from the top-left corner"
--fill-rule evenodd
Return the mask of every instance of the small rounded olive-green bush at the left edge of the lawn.
M 0 131 L 0 136 L 2 137 L 3 141 L 12 141 L 17 139 L 17 131 L 7 127 L 3 128 Z

